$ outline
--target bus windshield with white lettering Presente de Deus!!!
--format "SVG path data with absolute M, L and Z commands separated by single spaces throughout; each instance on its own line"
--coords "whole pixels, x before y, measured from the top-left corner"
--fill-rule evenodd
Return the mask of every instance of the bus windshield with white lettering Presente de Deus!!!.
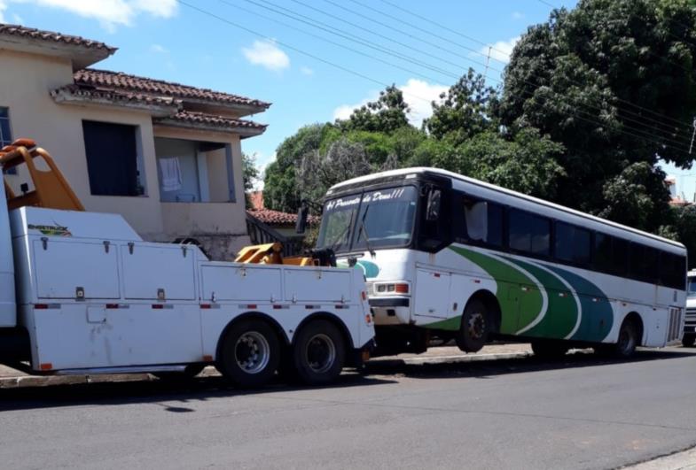
M 418 191 L 379 189 L 327 201 L 317 248 L 336 252 L 395 248 L 411 243 Z

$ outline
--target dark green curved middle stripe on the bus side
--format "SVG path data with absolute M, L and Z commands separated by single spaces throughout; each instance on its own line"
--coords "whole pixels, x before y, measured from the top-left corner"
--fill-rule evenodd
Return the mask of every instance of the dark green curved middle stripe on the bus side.
M 548 297 L 544 317 L 534 327 L 525 331 L 523 335 L 560 339 L 570 335 L 577 324 L 577 316 L 580 314 L 577 311 L 573 293 L 555 274 L 518 259 L 504 258 L 536 277 L 544 286 L 546 297 Z M 522 307 L 520 306 L 520 308 Z M 520 329 L 527 325 L 520 324 Z

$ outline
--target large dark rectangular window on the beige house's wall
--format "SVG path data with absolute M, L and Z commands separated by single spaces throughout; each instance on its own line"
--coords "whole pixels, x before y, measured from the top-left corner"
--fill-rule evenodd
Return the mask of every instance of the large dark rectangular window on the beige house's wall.
M 82 121 L 90 190 L 94 196 L 140 196 L 137 127 Z

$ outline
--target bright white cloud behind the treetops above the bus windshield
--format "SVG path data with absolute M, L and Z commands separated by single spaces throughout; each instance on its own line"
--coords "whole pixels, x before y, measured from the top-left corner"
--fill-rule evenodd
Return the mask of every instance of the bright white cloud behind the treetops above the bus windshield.
M 405 84 L 397 87 L 403 91 L 403 100 L 411 108 L 409 122 L 415 127 L 420 127 L 423 119 L 427 119 L 433 113 L 432 101 L 439 101 L 440 94 L 449 89 L 438 83 L 428 83 L 418 79 L 409 79 Z M 379 93 L 372 91 L 368 97 L 357 104 L 342 104 L 333 110 L 333 119 L 348 119 L 356 109 L 371 101 L 375 101 Z

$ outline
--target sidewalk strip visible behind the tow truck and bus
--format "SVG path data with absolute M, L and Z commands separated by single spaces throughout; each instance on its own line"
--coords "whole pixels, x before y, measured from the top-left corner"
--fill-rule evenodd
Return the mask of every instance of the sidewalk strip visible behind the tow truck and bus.
M 402 364 L 438 364 L 448 362 L 473 362 L 491 359 L 524 358 L 532 354 L 529 344 L 491 344 L 475 354 L 465 354 L 457 347 L 430 348 L 424 354 L 401 354 L 371 359 L 376 366 Z M 207 367 L 202 375 L 217 375 L 214 367 Z M 98 375 L 29 375 L 12 367 L 0 365 L 0 389 L 45 387 L 82 383 L 117 381 L 155 381 L 150 374 L 98 374 Z

